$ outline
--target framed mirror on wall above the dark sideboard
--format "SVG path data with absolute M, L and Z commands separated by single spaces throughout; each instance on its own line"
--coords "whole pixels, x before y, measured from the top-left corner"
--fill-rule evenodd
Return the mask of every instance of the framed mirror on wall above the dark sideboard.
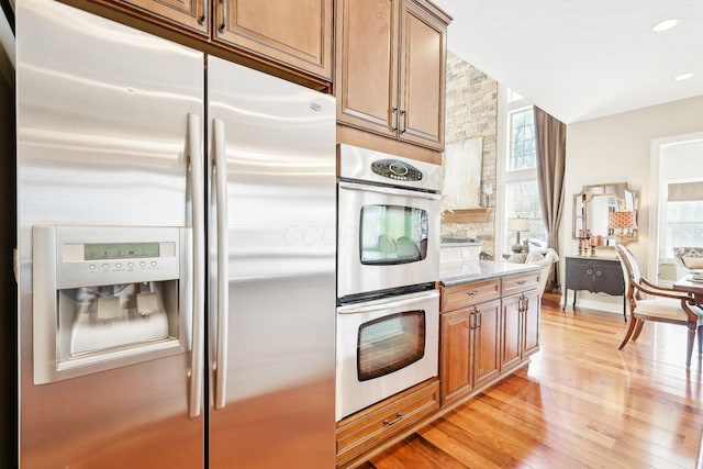
M 637 241 L 639 191 L 627 182 L 583 186 L 573 196 L 574 239 L 598 238 L 596 246 L 614 246 L 616 239 L 627 244 Z M 593 245 L 593 243 L 591 243 Z

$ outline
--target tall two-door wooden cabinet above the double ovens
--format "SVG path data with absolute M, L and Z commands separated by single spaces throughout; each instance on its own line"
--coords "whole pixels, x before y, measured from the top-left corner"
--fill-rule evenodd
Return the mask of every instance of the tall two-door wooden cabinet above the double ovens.
M 337 121 L 444 149 L 449 21 L 425 0 L 337 0 Z

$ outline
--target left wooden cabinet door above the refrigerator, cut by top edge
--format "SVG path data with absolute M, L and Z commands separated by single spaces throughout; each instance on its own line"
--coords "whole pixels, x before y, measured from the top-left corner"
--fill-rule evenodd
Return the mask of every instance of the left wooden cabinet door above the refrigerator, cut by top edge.
M 171 23 L 207 36 L 210 0 L 123 0 L 154 16 L 158 23 Z M 113 2 L 119 5 L 119 2 Z

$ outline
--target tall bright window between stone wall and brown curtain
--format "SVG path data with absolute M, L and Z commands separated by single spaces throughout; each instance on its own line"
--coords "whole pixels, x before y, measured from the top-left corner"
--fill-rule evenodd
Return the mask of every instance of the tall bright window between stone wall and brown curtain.
M 505 134 L 507 135 L 503 181 L 505 186 L 504 219 L 522 216 L 529 220 L 529 232 L 521 238 L 547 241 L 542 219 L 537 181 L 537 152 L 535 120 L 532 104 L 520 94 L 507 90 L 505 104 Z M 516 234 L 509 233 L 503 249 L 510 252 Z

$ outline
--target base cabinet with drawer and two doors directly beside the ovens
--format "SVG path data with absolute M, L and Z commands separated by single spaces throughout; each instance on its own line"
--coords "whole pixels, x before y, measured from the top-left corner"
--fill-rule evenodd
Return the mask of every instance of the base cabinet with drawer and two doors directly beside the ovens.
M 489 293 L 492 299 L 442 313 L 439 366 L 443 405 L 461 399 L 498 376 L 501 331 L 499 286 L 500 280 L 496 279 L 444 290 L 443 310 L 447 304 L 447 308 L 451 308 L 453 297 L 480 299 Z

